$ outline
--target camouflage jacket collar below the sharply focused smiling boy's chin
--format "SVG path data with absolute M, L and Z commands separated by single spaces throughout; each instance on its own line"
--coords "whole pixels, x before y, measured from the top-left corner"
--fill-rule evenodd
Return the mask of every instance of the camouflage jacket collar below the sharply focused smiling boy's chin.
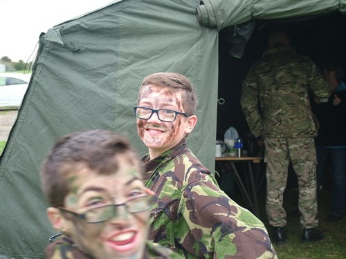
M 160 164 L 165 164 L 165 162 L 172 160 L 174 157 L 176 157 L 181 151 L 185 149 L 186 142 L 185 139 L 181 140 L 179 144 L 171 148 L 170 150 L 165 151 L 158 157 L 153 158 L 150 160 L 149 154 L 145 155 L 142 158 L 143 166 L 144 166 L 144 180 L 148 180 L 154 171 L 156 171 Z

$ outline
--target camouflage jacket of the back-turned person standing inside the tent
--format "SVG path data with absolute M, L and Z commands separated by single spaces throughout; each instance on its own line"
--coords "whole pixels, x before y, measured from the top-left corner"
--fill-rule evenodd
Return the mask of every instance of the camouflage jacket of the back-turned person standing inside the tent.
M 241 104 L 251 133 L 255 137 L 316 136 L 309 90 L 321 98 L 330 95 L 327 81 L 311 59 L 291 47 L 266 50 L 243 83 Z

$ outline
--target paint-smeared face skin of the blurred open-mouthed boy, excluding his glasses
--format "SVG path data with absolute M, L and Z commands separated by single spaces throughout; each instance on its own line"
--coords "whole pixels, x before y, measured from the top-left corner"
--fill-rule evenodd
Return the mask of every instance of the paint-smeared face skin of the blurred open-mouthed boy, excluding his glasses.
M 146 195 L 139 162 L 129 161 L 126 154 L 117 158 L 119 168 L 113 174 L 100 175 L 88 168 L 73 178 L 65 209 L 85 213 L 95 207 L 124 204 Z M 72 178 L 71 178 L 72 180 Z M 79 249 L 95 259 L 142 258 L 149 228 L 149 211 L 129 213 L 125 205 L 117 207 L 113 218 L 89 223 L 69 217 L 69 233 Z

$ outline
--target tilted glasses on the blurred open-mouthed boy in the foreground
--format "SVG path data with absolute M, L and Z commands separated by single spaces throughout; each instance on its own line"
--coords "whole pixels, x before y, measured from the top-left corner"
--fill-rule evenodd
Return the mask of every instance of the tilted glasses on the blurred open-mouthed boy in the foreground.
M 124 206 L 127 213 L 138 213 L 146 211 L 149 209 L 152 200 L 153 196 L 143 195 L 138 198 L 128 200 L 127 202 L 124 202 L 122 204 L 104 205 L 89 209 L 84 213 L 76 213 L 62 207 L 60 207 L 59 209 L 63 213 L 70 213 L 71 215 L 75 216 L 75 218 L 80 218 L 81 220 L 85 220 L 88 223 L 99 223 L 118 216 L 118 207 L 120 206 Z

